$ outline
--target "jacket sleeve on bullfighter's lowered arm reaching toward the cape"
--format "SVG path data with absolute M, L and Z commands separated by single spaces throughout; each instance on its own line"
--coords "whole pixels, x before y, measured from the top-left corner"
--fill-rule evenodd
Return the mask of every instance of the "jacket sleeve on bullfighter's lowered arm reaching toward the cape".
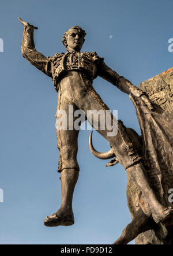
M 145 95 L 145 92 L 141 91 L 140 88 L 134 86 L 125 77 L 119 76 L 118 73 L 109 68 L 104 63 L 103 58 L 100 58 L 99 65 L 97 66 L 97 74 L 103 79 L 114 84 L 114 86 L 118 87 L 119 90 L 125 92 L 126 94 L 133 94 L 137 97 Z

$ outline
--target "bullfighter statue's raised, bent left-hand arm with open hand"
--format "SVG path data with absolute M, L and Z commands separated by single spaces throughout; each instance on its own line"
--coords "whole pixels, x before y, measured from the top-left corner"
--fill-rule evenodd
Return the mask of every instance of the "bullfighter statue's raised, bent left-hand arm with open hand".
M 24 34 L 21 46 L 23 57 L 26 58 L 32 65 L 36 66 L 37 69 L 40 69 L 40 71 L 45 73 L 47 76 L 52 77 L 51 61 L 35 49 L 35 43 L 33 41 L 33 30 L 37 29 L 37 27 L 22 21 L 21 18 L 18 19 L 20 20 L 21 24 L 24 25 Z

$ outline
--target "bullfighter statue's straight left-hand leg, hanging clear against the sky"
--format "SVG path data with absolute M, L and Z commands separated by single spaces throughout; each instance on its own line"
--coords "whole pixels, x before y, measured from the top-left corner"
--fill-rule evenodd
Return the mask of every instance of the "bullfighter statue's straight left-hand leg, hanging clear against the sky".
M 61 95 L 63 97 L 61 97 Z M 73 192 L 78 180 L 79 173 L 79 166 L 77 162 L 77 138 L 79 131 L 73 128 L 73 121 L 75 121 L 77 117 L 74 117 L 73 120 L 69 120 L 68 118 L 69 105 L 73 105 L 73 108 L 71 109 L 73 112 L 71 113 L 72 116 L 74 111 L 78 108 L 72 99 L 68 98 L 69 94 L 63 95 L 59 93 L 58 97 L 58 110 L 65 110 L 67 114 L 66 129 L 59 129 L 60 127 L 58 127 L 58 112 L 56 122 L 58 149 L 60 151 L 58 172 L 61 173 L 62 201 L 61 206 L 57 212 L 48 216 L 44 221 L 44 225 L 47 227 L 55 227 L 58 225 L 67 226 L 74 224 L 72 201 Z M 69 121 L 72 122 L 70 123 L 72 129 L 69 129 Z

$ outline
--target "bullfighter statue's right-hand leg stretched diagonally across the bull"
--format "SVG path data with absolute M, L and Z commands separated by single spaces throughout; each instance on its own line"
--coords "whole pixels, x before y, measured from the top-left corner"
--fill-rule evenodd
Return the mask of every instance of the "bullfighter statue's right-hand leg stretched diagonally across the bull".
M 97 111 L 104 110 L 105 112 L 108 110 L 108 107 L 104 104 L 92 87 L 88 89 L 88 93 L 85 93 L 85 97 L 82 98 L 82 101 L 78 102 L 78 107 L 85 111 L 86 116 L 88 109 Z M 103 135 L 108 142 L 111 143 L 112 149 L 114 150 L 118 161 L 124 166 L 130 178 L 134 180 L 145 197 L 148 199 L 152 216 L 156 223 L 164 221 L 166 218 L 170 217 L 172 208 L 161 205 L 156 198 L 155 192 L 153 191 L 148 177 L 146 176 L 144 165 L 141 162 L 142 158 L 127 135 L 125 125 L 123 125 L 121 121 L 117 124 L 115 117 L 111 115 L 111 125 L 116 126 L 118 128 L 118 132 L 116 135 L 110 136 L 108 135 L 110 131 L 108 131 L 107 125 L 105 125 L 104 129 L 101 128 L 101 117 L 98 118 L 98 127 L 95 127 L 95 122 L 93 122 L 93 119 L 91 120 L 91 118 L 89 118 L 88 121 L 90 121 L 91 125 L 97 129 L 97 131 Z

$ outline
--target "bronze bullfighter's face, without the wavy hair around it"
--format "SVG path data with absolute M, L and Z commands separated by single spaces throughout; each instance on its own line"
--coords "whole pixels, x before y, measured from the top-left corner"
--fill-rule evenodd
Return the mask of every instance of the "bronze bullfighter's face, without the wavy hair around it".
M 66 40 L 68 51 L 80 51 L 84 43 L 84 37 L 78 29 L 70 29 Z

